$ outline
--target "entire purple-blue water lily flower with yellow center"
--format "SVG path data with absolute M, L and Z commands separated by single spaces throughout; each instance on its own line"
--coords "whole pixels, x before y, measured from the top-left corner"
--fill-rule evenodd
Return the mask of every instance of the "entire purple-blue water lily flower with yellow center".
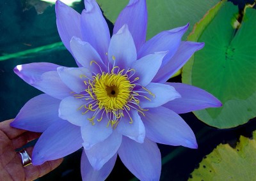
M 30 99 L 11 126 L 42 133 L 34 165 L 83 147 L 83 180 L 104 180 L 117 155 L 140 180 L 159 180 L 157 143 L 197 148 L 177 113 L 221 106 L 202 89 L 166 83 L 204 43 L 181 41 L 188 25 L 146 41 L 145 0 L 130 0 L 110 37 L 97 2 L 84 4 L 80 15 L 56 1 L 58 32 L 78 68 L 49 62 L 16 66 L 15 73 L 44 94 Z

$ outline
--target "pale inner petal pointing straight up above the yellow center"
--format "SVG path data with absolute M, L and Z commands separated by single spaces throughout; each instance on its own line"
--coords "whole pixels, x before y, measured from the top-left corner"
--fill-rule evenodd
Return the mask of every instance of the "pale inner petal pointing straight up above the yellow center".
M 132 62 L 136 61 L 136 47 L 132 40 L 132 35 L 129 32 L 127 25 L 112 36 L 108 49 L 109 62 L 115 66 L 129 68 Z

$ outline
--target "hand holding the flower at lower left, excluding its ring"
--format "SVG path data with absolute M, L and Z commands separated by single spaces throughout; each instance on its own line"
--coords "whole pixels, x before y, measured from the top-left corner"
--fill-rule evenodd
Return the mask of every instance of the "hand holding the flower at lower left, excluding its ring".
M 15 152 L 15 149 L 26 145 L 29 141 L 35 140 L 40 136 L 40 133 L 10 127 L 12 120 L 0 122 L 0 180 L 35 180 L 61 164 L 63 158 L 47 161 L 40 166 L 29 164 L 23 167 L 20 155 Z M 32 150 L 33 147 L 26 148 L 29 156 L 31 156 Z

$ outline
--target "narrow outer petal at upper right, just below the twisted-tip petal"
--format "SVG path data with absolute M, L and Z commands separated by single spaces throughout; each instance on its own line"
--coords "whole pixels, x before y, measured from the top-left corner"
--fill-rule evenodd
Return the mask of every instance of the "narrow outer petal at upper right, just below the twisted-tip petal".
M 159 69 L 157 75 L 153 79 L 153 82 L 166 82 L 176 71 L 186 64 L 195 51 L 200 50 L 203 47 L 204 43 L 182 41 L 179 49 L 175 55 L 173 55 L 172 59 L 170 59 L 165 66 Z

